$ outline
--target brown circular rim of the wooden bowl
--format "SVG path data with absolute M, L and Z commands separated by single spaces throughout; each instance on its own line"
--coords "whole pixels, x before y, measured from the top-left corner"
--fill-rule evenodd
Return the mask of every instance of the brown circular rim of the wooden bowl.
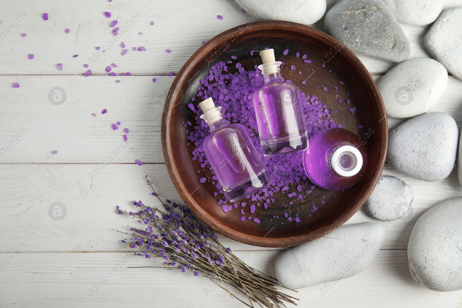
M 271 20 L 271 21 L 257 21 L 253 23 L 246 23 L 249 25 L 249 30 L 251 31 L 261 31 L 261 30 L 291 30 L 299 32 L 305 36 L 313 37 L 314 39 L 321 39 L 327 41 L 329 44 L 334 44 L 334 46 L 340 46 L 342 44 L 340 41 L 335 39 L 332 36 L 329 36 L 327 33 L 322 32 L 321 30 L 317 30 L 313 27 L 298 24 L 289 21 L 280 21 L 280 20 Z M 245 25 L 245 24 L 244 24 Z M 248 26 L 246 26 L 248 27 Z M 305 242 L 309 242 L 315 240 L 321 236 L 325 236 L 326 234 L 332 232 L 334 229 L 337 229 L 342 224 L 344 224 L 348 219 L 350 219 L 361 206 L 365 203 L 365 201 L 369 198 L 372 191 L 374 190 L 377 181 L 382 174 L 383 167 L 385 164 L 386 159 L 386 152 L 388 147 L 388 121 L 386 119 L 385 113 L 385 106 L 383 104 L 382 97 L 380 96 L 380 92 L 377 88 L 374 79 L 372 79 L 371 74 L 364 66 L 364 64 L 359 60 L 359 58 L 345 45 L 343 45 L 342 50 L 346 53 L 346 56 L 352 60 L 352 65 L 356 65 L 358 68 L 358 72 L 361 72 L 364 76 L 364 80 L 367 82 L 367 86 L 371 88 L 371 91 L 376 99 L 378 104 L 378 109 L 380 116 L 385 121 L 382 121 L 382 146 L 380 149 L 380 157 L 379 162 L 377 165 L 377 169 L 372 176 L 372 183 L 367 188 L 361 199 L 356 203 L 356 205 L 352 206 L 348 211 L 345 211 L 342 216 L 340 216 L 336 221 L 333 223 L 328 224 L 326 227 L 322 229 L 318 229 L 315 231 L 315 234 L 308 230 L 309 234 L 305 235 L 298 235 L 298 236 L 291 236 L 291 237 L 284 237 L 284 238 L 272 238 L 272 237 L 260 237 L 260 236 L 253 236 L 251 234 L 246 234 L 243 232 L 239 232 L 235 229 L 228 227 L 225 224 L 218 223 L 216 220 L 213 219 L 212 216 L 208 215 L 206 211 L 199 205 L 198 202 L 195 202 L 194 199 L 189 198 L 190 194 L 186 190 L 186 186 L 183 185 L 182 179 L 179 176 L 181 174 L 181 170 L 176 167 L 173 163 L 174 157 L 172 155 L 170 143 L 167 140 L 170 139 L 169 130 L 167 129 L 167 119 L 170 119 L 172 113 L 172 107 L 174 107 L 174 102 L 176 99 L 176 95 L 178 94 L 178 85 L 182 85 L 187 77 L 187 73 L 190 69 L 195 66 L 195 62 L 197 59 L 206 58 L 207 54 L 212 54 L 212 51 L 216 48 L 225 48 L 224 42 L 228 41 L 232 37 L 241 35 L 247 28 L 243 29 L 243 25 L 238 25 L 233 27 L 229 30 L 225 30 L 222 33 L 219 33 L 217 36 L 214 36 L 204 45 L 202 45 L 182 66 L 178 74 L 176 75 L 175 79 L 173 80 L 172 85 L 170 86 L 170 91 L 165 100 L 164 109 L 162 113 L 162 122 L 161 122 L 161 141 L 162 141 L 162 150 L 164 154 L 165 164 L 167 166 L 168 173 L 170 178 L 175 186 L 177 192 L 179 193 L 180 197 L 182 198 L 183 202 L 188 205 L 189 209 L 195 214 L 196 217 L 201 219 L 204 223 L 209 225 L 213 230 L 218 231 L 220 234 L 231 238 L 237 242 L 242 242 L 249 245 L 259 246 L 259 247 L 272 247 L 272 248 L 281 248 L 281 247 L 290 247 L 299 245 Z M 228 44 L 229 45 L 229 44 Z M 220 52 L 225 52 L 225 50 Z M 215 52 L 216 54 L 216 52 Z M 220 55 L 220 54 L 219 54 Z M 209 61 L 210 64 L 213 60 Z M 379 121 L 380 122 L 380 121 Z M 306 228 L 305 228 L 306 229 Z

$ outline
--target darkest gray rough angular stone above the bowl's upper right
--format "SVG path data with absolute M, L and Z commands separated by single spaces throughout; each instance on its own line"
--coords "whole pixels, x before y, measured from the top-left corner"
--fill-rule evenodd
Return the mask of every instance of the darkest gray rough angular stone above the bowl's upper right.
M 411 52 L 398 20 L 381 0 L 340 0 L 327 12 L 324 26 L 355 53 L 401 62 Z

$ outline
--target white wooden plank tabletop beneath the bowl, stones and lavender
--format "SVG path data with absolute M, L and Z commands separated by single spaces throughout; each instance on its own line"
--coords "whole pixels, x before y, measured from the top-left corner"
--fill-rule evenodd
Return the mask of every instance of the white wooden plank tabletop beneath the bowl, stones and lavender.
M 328 9 L 335 2 L 328 1 Z M 461 0 L 446 2 L 445 7 L 462 5 Z M 112 18 L 104 17 L 105 11 Z M 0 263 L 7 264 L 0 270 L 0 307 L 243 307 L 205 278 L 176 270 L 133 268 L 158 266 L 161 261 L 135 258 L 125 263 L 128 250 L 112 228 L 124 229 L 128 224 L 127 217 L 115 214 L 116 205 L 129 208 L 132 199 L 156 205 L 141 180 L 145 171 L 164 199 L 181 202 L 160 145 L 162 108 L 174 79 L 168 75 L 177 73 L 203 40 L 243 24 L 250 15 L 232 0 L 2 0 L 0 32 L 21 12 L 27 17 L 13 24 L 0 42 L 0 147 L 8 148 L 0 157 Z M 89 67 L 92 75 L 84 77 L 83 64 L 90 64 L 95 47 L 103 48 L 112 40 L 109 22 L 117 19 L 121 27 L 137 12 L 142 17 L 134 29 L 101 53 Z M 49 14 L 48 21 L 43 13 Z M 314 27 L 324 30 L 323 19 Z M 429 27 L 402 27 L 411 43 L 410 58 L 429 56 L 422 40 Z M 120 42 L 128 48 L 124 56 Z M 147 51 L 133 51 L 134 46 Z M 34 54 L 34 59 L 29 60 L 28 54 Z M 376 80 L 395 65 L 360 59 Z M 63 64 L 62 71 L 58 63 Z M 108 76 L 104 69 L 111 63 L 118 66 L 113 71 L 132 75 Z M 14 82 L 20 87 L 13 88 Z M 67 94 L 60 106 L 49 101 L 49 91 L 56 86 Z M 449 113 L 461 126 L 461 93 L 462 82 L 450 76 L 446 94 L 432 111 Z M 103 109 L 107 114 L 101 114 Z M 390 128 L 402 122 L 388 120 Z M 113 131 L 111 123 L 117 121 L 122 122 L 121 129 Z M 122 145 L 124 127 L 142 133 L 91 179 L 93 169 Z M 26 133 L 14 139 L 21 129 Z M 54 150 L 57 154 L 52 154 Z M 134 159 L 144 164 L 138 166 Z M 300 290 L 296 295 L 300 307 L 462 307 L 462 291 L 437 293 L 416 283 L 406 252 L 421 214 L 462 195 L 456 170 L 437 183 L 411 179 L 388 165 L 383 174 L 398 176 L 412 187 L 413 217 L 383 222 L 386 240 L 371 266 L 337 284 Z M 67 210 L 61 221 L 49 216 L 55 202 Z M 372 220 L 362 209 L 348 223 Z M 220 239 L 249 265 L 273 275 L 274 261 L 284 250 L 254 249 Z M 15 254 L 21 247 L 24 251 Z M 115 270 L 121 261 L 122 268 Z M 109 272 L 113 277 L 108 281 Z

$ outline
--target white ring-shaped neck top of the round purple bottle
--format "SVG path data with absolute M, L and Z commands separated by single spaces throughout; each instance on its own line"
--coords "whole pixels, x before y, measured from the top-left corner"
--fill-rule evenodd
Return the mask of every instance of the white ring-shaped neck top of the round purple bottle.
M 331 157 L 332 169 L 340 176 L 356 175 L 363 167 L 363 156 L 352 145 L 342 145 L 334 150 Z

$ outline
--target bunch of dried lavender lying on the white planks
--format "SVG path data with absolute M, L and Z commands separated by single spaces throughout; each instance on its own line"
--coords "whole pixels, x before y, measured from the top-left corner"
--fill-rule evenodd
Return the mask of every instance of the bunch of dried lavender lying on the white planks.
M 160 257 L 165 260 L 164 268 L 178 268 L 182 272 L 193 272 L 195 276 L 205 276 L 249 307 L 254 307 L 254 302 L 270 308 L 286 307 L 284 302 L 297 305 L 294 302 L 297 298 L 276 289 L 282 287 L 276 279 L 245 264 L 231 252 L 231 248 L 224 248 L 213 229 L 191 215 L 187 206 L 170 200 L 164 203 L 152 182 L 147 180 L 147 175 L 146 182 L 152 188 L 152 195 L 164 205 L 164 211 L 141 201 L 132 201 L 139 211 L 122 211 L 117 206 L 118 214 L 129 215 L 143 224 L 143 227 L 128 226 L 133 232 L 122 232 L 132 236 L 122 242 L 134 249 L 135 255 Z M 245 294 L 249 303 L 231 293 L 226 284 Z

